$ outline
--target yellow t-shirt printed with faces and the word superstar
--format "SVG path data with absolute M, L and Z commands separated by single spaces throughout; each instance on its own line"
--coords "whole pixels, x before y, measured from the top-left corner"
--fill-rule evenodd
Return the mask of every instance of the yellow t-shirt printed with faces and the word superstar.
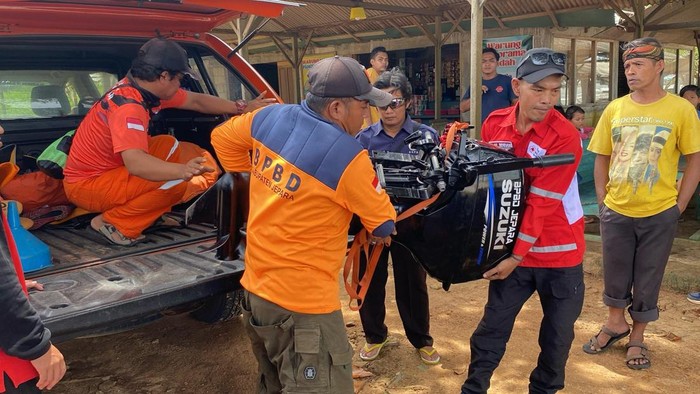
M 610 156 L 605 205 L 630 217 L 652 216 L 676 205 L 678 160 L 700 152 L 700 120 L 678 96 L 639 104 L 627 95 L 605 108 L 588 150 Z

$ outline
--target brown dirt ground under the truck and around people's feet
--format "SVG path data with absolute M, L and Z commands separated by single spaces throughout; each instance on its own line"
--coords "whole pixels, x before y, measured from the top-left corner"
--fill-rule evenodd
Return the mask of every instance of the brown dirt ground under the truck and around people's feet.
M 595 225 L 589 225 L 589 227 Z M 697 231 L 698 222 L 683 225 Z M 595 232 L 594 228 L 589 232 Z M 652 367 L 632 371 L 624 364 L 624 341 L 609 352 L 587 355 L 581 345 L 597 332 L 606 308 L 601 301 L 600 243 L 590 237 L 585 260 L 586 299 L 576 323 L 565 393 L 688 393 L 698 392 L 695 370 L 700 357 L 700 305 L 686 301 L 680 291 L 663 290 L 659 300 L 661 319 L 647 329 Z M 690 277 L 675 283 L 687 290 L 700 278 L 700 242 L 681 240 L 674 246 L 670 272 Z M 391 277 L 391 275 L 390 275 Z M 403 333 L 393 299 L 393 283 L 387 286 L 387 326 L 394 344 L 380 357 L 355 366 L 372 376 L 356 379 L 357 392 L 458 393 L 466 377 L 469 336 L 482 313 L 487 282 L 453 285 L 450 291 L 429 280 L 431 333 L 442 363 L 421 364 Z M 681 288 L 678 288 L 681 286 Z M 673 287 L 671 285 L 666 286 Z M 341 289 L 341 294 L 345 291 Z M 537 296 L 525 305 L 516 322 L 508 350 L 492 379 L 492 393 L 525 393 L 528 376 L 539 352 L 537 334 L 541 311 Z M 343 299 L 347 305 L 347 299 Z M 344 307 L 348 336 L 354 348 L 364 343 L 359 315 Z M 242 319 L 206 325 L 187 315 L 169 316 L 138 330 L 83 338 L 59 345 L 68 361 L 68 373 L 56 393 L 253 393 L 256 362 L 243 329 Z

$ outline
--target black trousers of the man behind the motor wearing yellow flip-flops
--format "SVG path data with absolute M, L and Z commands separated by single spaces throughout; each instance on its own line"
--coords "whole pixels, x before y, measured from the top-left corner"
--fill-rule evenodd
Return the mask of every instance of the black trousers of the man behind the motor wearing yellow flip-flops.
M 396 306 L 399 309 L 401 322 L 411 345 L 419 349 L 432 346 L 430 336 L 430 306 L 428 302 L 428 287 L 425 284 L 425 270 L 413 258 L 411 252 L 393 243 L 384 248 L 374 276 L 367 290 L 367 295 L 360 308 L 360 320 L 368 343 L 381 343 L 386 340 L 386 281 L 388 279 L 389 253 L 394 267 L 394 288 L 396 291 Z M 360 260 L 360 277 L 364 275 L 366 260 L 364 255 Z

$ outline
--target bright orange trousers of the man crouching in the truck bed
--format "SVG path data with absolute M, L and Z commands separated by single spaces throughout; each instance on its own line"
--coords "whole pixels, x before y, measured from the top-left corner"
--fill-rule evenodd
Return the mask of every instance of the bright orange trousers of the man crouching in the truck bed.
M 171 163 L 180 162 L 178 141 L 168 135 L 150 138 L 148 153 Z M 152 182 L 119 167 L 76 183 L 63 182 L 68 199 L 91 212 L 102 212 L 104 221 L 124 236 L 136 238 L 187 192 L 183 180 Z

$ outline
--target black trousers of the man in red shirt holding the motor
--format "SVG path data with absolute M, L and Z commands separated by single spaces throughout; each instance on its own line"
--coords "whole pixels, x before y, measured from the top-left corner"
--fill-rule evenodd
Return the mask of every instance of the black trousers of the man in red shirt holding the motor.
M 583 307 L 583 267 L 518 267 L 504 280 L 489 284 L 484 316 L 472 334 L 471 362 L 462 394 L 485 393 L 503 358 L 515 318 L 537 291 L 544 316 L 540 355 L 530 374 L 530 393 L 555 393 L 564 388 L 564 370 L 574 340 L 574 322 Z

